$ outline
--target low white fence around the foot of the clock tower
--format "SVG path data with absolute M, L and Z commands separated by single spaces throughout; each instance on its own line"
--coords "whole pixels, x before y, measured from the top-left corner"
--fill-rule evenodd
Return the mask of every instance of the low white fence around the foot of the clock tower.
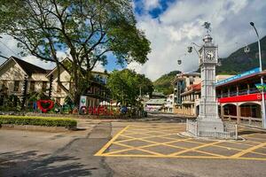
M 186 121 L 186 131 L 195 136 L 201 137 L 215 137 L 215 138 L 225 138 L 225 139 L 238 139 L 238 126 L 237 125 L 227 125 L 224 124 L 222 132 L 209 132 L 202 131 L 199 128 L 198 122 L 196 120 L 187 119 Z

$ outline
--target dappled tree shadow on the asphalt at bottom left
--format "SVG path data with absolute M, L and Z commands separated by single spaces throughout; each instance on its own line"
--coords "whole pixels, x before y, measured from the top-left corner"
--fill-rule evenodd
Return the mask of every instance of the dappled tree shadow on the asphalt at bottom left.
M 12 160 L 11 160 L 12 159 Z M 37 155 L 36 150 L 23 153 L 17 151 L 0 154 L 0 176 L 88 176 L 90 170 L 84 169 L 79 158 L 70 156 L 49 157 Z

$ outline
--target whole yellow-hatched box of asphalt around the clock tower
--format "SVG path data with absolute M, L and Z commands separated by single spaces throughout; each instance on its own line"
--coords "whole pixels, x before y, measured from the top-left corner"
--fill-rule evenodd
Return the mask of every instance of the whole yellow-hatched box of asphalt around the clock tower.
M 239 128 L 244 141 L 206 140 L 186 137 L 178 126 L 129 125 L 95 154 L 102 157 L 217 158 L 266 160 L 266 132 Z

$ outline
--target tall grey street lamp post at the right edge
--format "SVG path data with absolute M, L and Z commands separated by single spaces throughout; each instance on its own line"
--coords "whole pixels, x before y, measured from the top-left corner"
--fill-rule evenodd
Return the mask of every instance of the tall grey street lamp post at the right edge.
M 254 22 L 250 22 L 250 25 L 254 27 Z M 260 36 L 258 34 L 258 31 L 256 27 L 254 27 L 254 31 L 258 38 L 258 46 L 259 46 L 259 58 L 260 58 L 260 72 L 262 73 L 262 51 L 261 51 L 261 42 L 260 42 Z M 261 84 L 263 87 L 263 76 L 261 76 Z M 265 117 L 265 98 L 264 98 L 264 88 L 262 89 L 262 127 L 266 128 L 266 117 Z

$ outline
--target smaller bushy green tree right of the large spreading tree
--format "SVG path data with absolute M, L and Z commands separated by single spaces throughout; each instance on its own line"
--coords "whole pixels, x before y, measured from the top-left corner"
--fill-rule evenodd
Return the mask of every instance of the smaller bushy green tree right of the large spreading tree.
M 108 78 L 107 87 L 111 90 L 111 96 L 123 105 L 135 106 L 138 104 L 139 89 L 142 94 L 153 93 L 153 82 L 143 74 L 124 69 L 113 71 Z

